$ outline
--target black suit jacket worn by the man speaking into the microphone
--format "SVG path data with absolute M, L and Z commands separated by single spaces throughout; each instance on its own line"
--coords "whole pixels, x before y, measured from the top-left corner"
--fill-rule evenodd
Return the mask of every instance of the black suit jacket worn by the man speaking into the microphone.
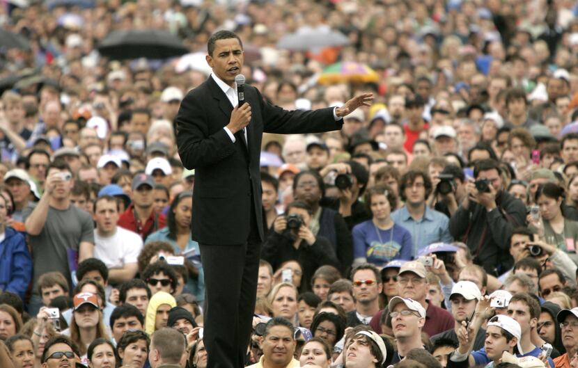
M 341 129 L 343 125 L 343 120 L 335 121 L 331 108 L 286 111 L 265 102 L 257 88 L 251 86 L 245 86 L 244 96 L 251 105 L 249 150 L 242 136 L 237 134 L 233 143 L 223 129 L 231 119 L 233 106 L 212 77 L 187 93 L 176 118 L 180 158 L 185 168 L 195 169 L 191 227 L 192 239 L 199 243 L 245 243 L 251 206 L 263 241 L 259 173 L 263 132 L 319 133 Z

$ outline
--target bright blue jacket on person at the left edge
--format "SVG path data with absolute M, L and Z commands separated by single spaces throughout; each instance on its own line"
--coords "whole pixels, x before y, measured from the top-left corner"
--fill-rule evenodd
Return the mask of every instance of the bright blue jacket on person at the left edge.
M 24 294 L 32 278 L 32 258 L 24 236 L 6 227 L 6 238 L 0 243 L 0 290 Z

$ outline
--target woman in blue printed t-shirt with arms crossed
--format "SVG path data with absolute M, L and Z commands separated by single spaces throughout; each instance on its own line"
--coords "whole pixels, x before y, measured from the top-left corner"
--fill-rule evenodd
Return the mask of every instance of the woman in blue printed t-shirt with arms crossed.
M 365 193 L 371 220 L 353 227 L 354 264 L 369 262 L 384 266 L 393 259 L 412 259 L 412 236 L 391 220 L 397 196 L 386 184 L 377 184 Z

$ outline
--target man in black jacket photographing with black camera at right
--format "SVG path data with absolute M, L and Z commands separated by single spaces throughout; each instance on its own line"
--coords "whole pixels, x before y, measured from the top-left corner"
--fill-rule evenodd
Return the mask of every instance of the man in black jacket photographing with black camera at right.
M 525 224 L 524 204 L 503 191 L 501 168 L 492 159 L 478 161 L 476 180 L 466 184 L 467 196 L 451 216 L 449 230 L 463 239 L 480 264 L 492 275 L 511 268 L 513 259 L 506 252 L 514 227 Z

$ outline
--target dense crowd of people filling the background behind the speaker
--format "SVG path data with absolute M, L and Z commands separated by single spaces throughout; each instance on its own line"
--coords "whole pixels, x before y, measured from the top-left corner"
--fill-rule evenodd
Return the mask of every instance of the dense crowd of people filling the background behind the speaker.
M 175 118 L 229 29 L 264 103 L 375 97 L 341 131 L 263 136 L 247 366 L 578 368 L 576 15 L 564 0 L 0 2 L 0 367 L 208 366 Z M 101 56 L 127 29 L 203 58 Z M 303 47 L 336 31 L 347 42 Z M 337 62 L 355 67 L 327 78 Z

